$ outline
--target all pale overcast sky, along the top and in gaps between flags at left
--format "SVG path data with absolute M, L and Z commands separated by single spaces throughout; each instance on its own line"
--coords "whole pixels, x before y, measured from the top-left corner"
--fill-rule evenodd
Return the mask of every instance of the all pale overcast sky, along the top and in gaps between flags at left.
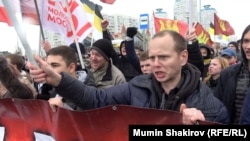
M 169 18 L 173 18 L 173 8 L 175 0 L 116 0 L 113 5 L 104 4 L 100 0 L 90 0 L 94 3 L 103 6 L 103 13 L 112 14 L 124 14 L 130 15 L 132 17 L 138 17 L 140 14 L 151 14 L 156 8 L 163 8 L 169 15 Z M 201 0 L 201 5 L 210 4 L 211 7 L 217 10 L 218 16 L 221 19 L 230 22 L 231 26 L 235 29 L 236 35 L 240 38 L 244 28 L 250 24 L 250 16 L 248 16 L 250 9 L 249 0 Z M 1 25 L 1 23 L 0 23 Z M 15 32 L 10 32 L 7 30 L 8 27 L 0 26 L 0 39 L 2 45 L 0 46 L 0 51 L 11 51 L 16 45 Z M 28 41 L 31 47 L 37 47 L 38 45 L 38 30 L 34 27 L 29 27 L 26 30 Z M 4 39 L 4 40 L 3 40 Z

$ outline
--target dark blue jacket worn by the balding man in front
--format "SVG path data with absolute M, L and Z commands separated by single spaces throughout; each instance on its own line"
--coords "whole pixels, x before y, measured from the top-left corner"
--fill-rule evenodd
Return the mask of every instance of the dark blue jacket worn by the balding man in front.
M 130 82 L 106 89 L 86 86 L 66 73 L 61 73 L 61 75 L 62 80 L 56 90 L 61 96 L 70 99 L 83 109 L 123 104 L 179 111 L 180 104 L 185 103 L 187 107 L 195 107 L 201 110 L 208 121 L 228 122 L 228 113 L 225 106 L 202 83 L 199 78 L 200 71 L 191 64 L 183 67 L 183 79 L 179 90 L 171 95 L 168 100 L 161 98 L 161 91 L 157 91 L 152 74 L 140 75 Z

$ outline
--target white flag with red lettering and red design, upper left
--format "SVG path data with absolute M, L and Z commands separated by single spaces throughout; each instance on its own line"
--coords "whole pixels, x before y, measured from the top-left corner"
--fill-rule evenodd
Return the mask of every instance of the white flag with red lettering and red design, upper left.
M 80 0 L 68 0 L 69 12 L 67 4 L 63 0 L 45 0 L 44 8 L 42 8 L 42 24 L 45 29 L 60 33 L 65 36 L 66 43 L 74 42 L 74 38 L 82 41 L 93 30 L 91 23 L 87 19 L 87 15 L 82 7 Z M 70 18 L 74 23 L 74 27 L 70 26 Z M 73 28 L 76 35 L 73 34 Z

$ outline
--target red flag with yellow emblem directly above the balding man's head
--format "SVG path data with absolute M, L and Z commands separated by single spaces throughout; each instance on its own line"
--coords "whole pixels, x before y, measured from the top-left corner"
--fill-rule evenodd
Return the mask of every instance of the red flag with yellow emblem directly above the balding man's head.
M 188 24 L 183 21 L 162 19 L 154 16 L 155 33 L 162 30 L 174 30 L 180 33 L 182 36 L 186 35 L 188 30 Z

